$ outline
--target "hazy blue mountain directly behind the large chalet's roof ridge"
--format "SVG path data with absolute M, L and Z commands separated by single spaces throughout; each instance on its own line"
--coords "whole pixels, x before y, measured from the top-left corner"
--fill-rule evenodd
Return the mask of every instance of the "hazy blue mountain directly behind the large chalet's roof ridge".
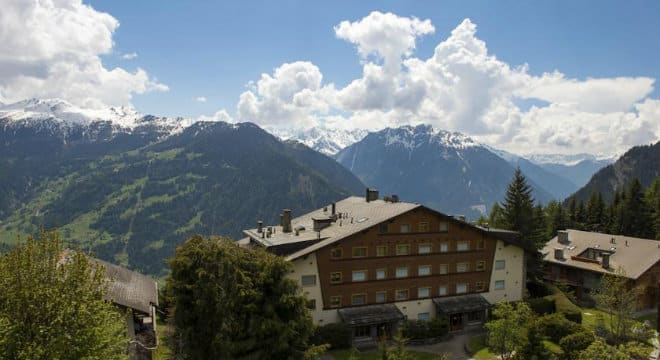
M 514 172 L 507 161 L 469 137 L 428 125 L 370 133 L 336 159 L 384 194 L 472 217 L 503 199 Z M 552 198 L 530 183 L 537 200 Z

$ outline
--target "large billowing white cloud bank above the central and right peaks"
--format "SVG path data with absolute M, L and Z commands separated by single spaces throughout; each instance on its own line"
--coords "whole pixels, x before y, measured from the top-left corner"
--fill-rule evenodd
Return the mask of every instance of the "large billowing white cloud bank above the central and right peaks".
M 270 128 L 427 123 L 518 153 L 610 155 L 660 138 L 660 100 L 649 98 L 655 79 L 536 76 L 491 54 L 470 19 L 432 56 L 415 57 L 417 38 L 433 32 L 429 20 L 391 13 L 342 21 L 335 33 L 356 45 L 360 77 L 336 89 L 313 63 L 285 63 L 250 83 L 237 118 Z M 547 105 L 516 105 L 525 100 Z

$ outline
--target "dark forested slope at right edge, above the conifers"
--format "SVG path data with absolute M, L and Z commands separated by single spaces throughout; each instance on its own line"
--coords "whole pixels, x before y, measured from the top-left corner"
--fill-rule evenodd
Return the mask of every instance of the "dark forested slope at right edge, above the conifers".
M 660 176 L 660 142 L 635 146 L 614 164 L 599 170 L 589 182 L 575 193 L 578 200 L 587 200 L 592 192 L 600 192 L 606 201 L 612 200 L 617 189 L 638 178 L 643 187 Z

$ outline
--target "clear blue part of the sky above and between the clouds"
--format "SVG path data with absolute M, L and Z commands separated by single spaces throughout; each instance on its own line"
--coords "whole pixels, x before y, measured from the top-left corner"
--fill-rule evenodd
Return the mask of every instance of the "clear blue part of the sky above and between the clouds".
M 88 1 L 119 20 L 109 67 L 140 66 L 170 87 L 135 96 L 143 112 L 199 116 L 233 111 L 249 81 L 285 62 L 307 60 L 346 85 L 361 66 L 333 27 L 373 10 L 430 19 L 418 43 L 427 57 L 464 18 L 491 53 L 532 74 L 559 69 L 575 78 L 660 78 L 657 1 Z M 131 61 L 117 53 L 136 52 Z M 653 97 L 658 97 L 655 87 Z M 194 98 L 205 96 L 206 103 Z

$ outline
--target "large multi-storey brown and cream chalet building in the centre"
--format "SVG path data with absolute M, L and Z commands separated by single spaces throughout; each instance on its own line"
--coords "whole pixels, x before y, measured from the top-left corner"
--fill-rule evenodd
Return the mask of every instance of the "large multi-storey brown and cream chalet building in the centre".
M 343 321 L 354 339 L 391 336 L 399 322 L 445 316 L 452 331 L 484 321 L 499 301 L 521 300 L 518 233 L 478 227 L 396 196 L 349 197 L 280 224 L 245 230 L 242 246 L 293 263 L 291 278 L 314 322 Z

